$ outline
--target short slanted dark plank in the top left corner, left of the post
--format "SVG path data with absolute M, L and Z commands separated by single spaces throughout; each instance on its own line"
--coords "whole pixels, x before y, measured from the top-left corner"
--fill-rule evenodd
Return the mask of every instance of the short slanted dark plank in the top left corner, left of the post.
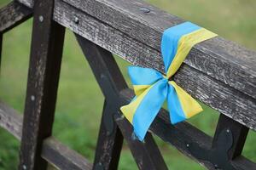
M 0 32 L 6 32 L 18 26 L 32 16 L 32 9 L 16 1 L 0 8 Z

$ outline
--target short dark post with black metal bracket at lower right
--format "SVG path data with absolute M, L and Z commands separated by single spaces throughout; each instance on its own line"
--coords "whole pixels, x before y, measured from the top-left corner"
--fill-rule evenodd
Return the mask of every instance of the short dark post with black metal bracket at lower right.
M 248 128 L 230 117 L 220 115 L 216 132 L 212 140 L 212 148 L 204 149 L 193 144 L 189 147 L 193 156 L 201 161 L 212 162 L 218 169 L 240 169 L 236 167 L 231 160 L 241 156 L 241 151 L 247 138 Z M 251 166 L 251 163 L 247 163 Z

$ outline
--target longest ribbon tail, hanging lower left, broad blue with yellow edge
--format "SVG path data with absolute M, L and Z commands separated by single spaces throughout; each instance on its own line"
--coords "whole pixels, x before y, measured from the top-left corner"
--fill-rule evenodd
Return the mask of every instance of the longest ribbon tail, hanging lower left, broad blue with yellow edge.
M 166 100 L 166 84 L 165 79 L 154 83 L 143 94 L 137 96 L 137 99 L 132 101 L 131 104 L 121 107 L 121 111 L 132 123 L 134 133 L 141 141 L 143 141 L 148 128 Z

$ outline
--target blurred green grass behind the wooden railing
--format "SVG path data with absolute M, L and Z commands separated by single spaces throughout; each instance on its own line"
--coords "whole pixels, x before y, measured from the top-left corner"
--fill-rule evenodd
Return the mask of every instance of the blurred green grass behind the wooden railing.
M 206 27 L 218 35 L 256 49 L 256 1 L 254 0 L 148 0 L 148 3 Z M 9 3 L 1 0 L 0 7 Z M 3 36 L 3 60 L 0 78 L 0 99 L 15 110 L 24 110 L 32 20 L 28 20 Z M 127 79 L 124 60 L 115 57 Z M 128 79 L 127 79 L 128 80 Z M 128 80 L 129 82 L 129 80 Z M 57 139 L 93 161 L 103 96 L 89 65 L 67 30 L 61 80 L 55 113 L 54 135 Z M 218 113 L 204 106 L 205 111 L 189 120 L 196 127 L 213 135 Z M 156 138 L 170 169 L 204 169 L 180 154 L 169 144 Z M 243 155 L 256 161 L 256 135 L 250 132 Z M 0 170 L 16 169 L 19 142 L 0 127 Z M 135 170 L 136 163 L 124 144 L 119 169 Z

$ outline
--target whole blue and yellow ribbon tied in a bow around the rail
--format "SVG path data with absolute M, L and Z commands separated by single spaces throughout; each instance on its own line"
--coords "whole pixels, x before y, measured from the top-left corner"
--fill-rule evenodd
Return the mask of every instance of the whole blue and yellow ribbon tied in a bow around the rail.
M 212 31 L 184 22 L 164 31 L 161 53 L 166 75 L 150 68 L 128 68 L 136 97 L 120 110 L 133 125 L 138 139 L 144 139 L 150 124 L 166 100 L 172 124 L 182 122 L 202 111 L 201 105 L 183 88 L 170 81 L 170 77 L 176 73 L 196 43 L 216 36 Z

